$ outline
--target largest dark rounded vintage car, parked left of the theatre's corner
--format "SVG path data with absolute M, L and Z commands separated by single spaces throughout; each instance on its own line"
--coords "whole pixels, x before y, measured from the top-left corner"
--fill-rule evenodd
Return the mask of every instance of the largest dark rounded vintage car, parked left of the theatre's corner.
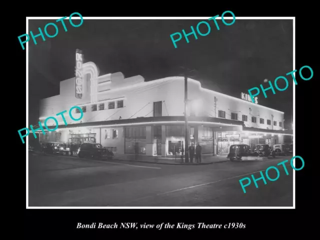
M 106 157 L 112 158 L 113 152 L 109 151 L 99 143 L 85 142 L 82 143 L 78 149 L 78 157 Z

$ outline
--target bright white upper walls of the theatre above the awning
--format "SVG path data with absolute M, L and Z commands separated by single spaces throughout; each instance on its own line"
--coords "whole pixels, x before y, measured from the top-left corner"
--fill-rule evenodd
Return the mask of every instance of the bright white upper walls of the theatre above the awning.
M 182 116 L 184 112 L 184 80 L 183 77 L 173 76 L 162 78 L 158 80 L 144 82 L 141 76 L 134 76 L 123 78 L 123 75 L 116 73 L 113 77 L 109 77 L 112 81 L 109 83 L 110 90 L 98 93 L 97 100 L 123 98 L 123 108 L 107 109 L 107 101 L 104 103 L 104 110 L 91 111 L 91 104 L 86 105 L 86 112 L 83 113 L 83 118 L 79 121 L 73 121 L 68 116 L 69 108 L 73 105 L 89 103 L 89 94 L 84 99 L 77 99 L 74 96 L 74 78 L 70 78 L 60 83 L 60 95 L 42 99 L 40 102 L 40 117 L 54 116 L 56 113 L 67 110 L 65 115 L 66 121 L 69 123 L 79 122 L 93 122 L 104 120 L 115 120 L 136 117 L 151 117 L 153 116 L 153 102 L 165 101 L 162 103 L 162 116 Z M 128 84 L 128 79 L 132 79 L 132 84 Z M 125 83 L 117 82 L 123 81 Z M 99 89 L 104 89 L 98 87 Z M 89 89 L 88 89 L 89 91 Z M 216 117 L 218 117 L 218 110 L 225 111 L 225 118 L 231 119 L 231 111 L 237 111 L 238 120 L 242 120 L 242 114 L 247 115 L 246 126 L 253 126 L 259 128 L 272 129 L 272 125 L 267 125 L 266 120 L 270 119 L 271 114 L 274 115 L 273 120 L 277 121 L 277 126 L 273 129 L 282 129 L 279 127 L 279 121 L 282 121 L 284 114 L 280 111 L 273 110 L 252 102 L 242 100 L 210 91 L 201 88 L 200 83 L 193 79 L 188 79 L 188 99 L 200 99 L 200 106 L 197 107 L 197 115 L 215 116 L 214 114 L 214 96 L 217 97 Z M 115 100 L 116 101 L 116 100 Z M 249 110 L 251 108 L 251 111 Z M 98 108 L 98 106 L 97 106 Z M 251 122 L 251 115 L 256 115 L 256 123 Z M 257 116 L 257 115 L 260 116 Z M 72 113 L 73 117 L 78 118 L 80 113 Z M 133 116 L 132 116 L 133 115 Z M 264 124 L 259 123 L 259 118 L 264 118 Z M 62 123 L 62 118 L 57 117 L 58 121 Z M 42 119 L 43 121 L 44 119 Z M 53 124 L 53 120 L 48 123 Z M 48 125 L 50 125 L 48 124 Z M 120 135 L 120 133 L 119 133 Z M 122 135 L 121 135 L 122 136 Z M 101 137 L 103 138 L 103 137 Z M 103 145 L 103 144 L 102 144 Z

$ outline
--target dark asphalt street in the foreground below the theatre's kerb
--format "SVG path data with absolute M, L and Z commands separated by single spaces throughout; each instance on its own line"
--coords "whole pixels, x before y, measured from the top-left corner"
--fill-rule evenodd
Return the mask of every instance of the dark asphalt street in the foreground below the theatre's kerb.
M 293 170 L 277 166 L 280 176 L 267 184 L 253 180 L 243 193 L 239 179 L 276 166 L 276 157 L 224 161 L 208 165 L 79 159 L 69 156 L 28 157 L 29 206 L 292 206 Z M 265 174 L 264 174 L 265 175 Z M 269 176 L 275 178 L 275 170 Z M 244 182 L 246 183 L 246 181 Z

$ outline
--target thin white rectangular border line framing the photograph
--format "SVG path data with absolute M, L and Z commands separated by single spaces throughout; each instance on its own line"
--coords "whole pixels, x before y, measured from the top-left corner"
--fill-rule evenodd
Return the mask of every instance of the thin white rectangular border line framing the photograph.
M 28 20 L 29 19 L 59 19 L 60 17 L 39 17 L 39 16 L 32 16 L 26 17 L 26 24 L 25 24 L 25 32 L 28 33 Z M 211 16 L 207 17 L 92 17 L 83 16 L 83 19 L 208 19 Z M 80 17 L 72 17 L 74 19 L 80 19 Z M 216 17 L 217 19 L 221 19 L 221 17 Z M 233 19 L 232 17 L 223 17 L 225 19 Z M 69 19 L 69 17 L 67 17 Z M 236 19 L 292 19 L 293 20 L 293 69 L 295 69 L 295 17 L 237 17 Z M 26 51 L 26 125 L 28 125 L 28 42 L 25 45 Z M 293 70 L 292 69 L 292 70 Z M 295 76 L 295 73 L 293 73 Z M 295 84 L 293 84 L 293 156 L 295 155 Z M 28 137 L 26 137 L 25 144 L 28 145 Z M 295 159 L 294 163 L 295 165 Z M 149 207 L 149 206 L 139 206 L 139 207 L 108 207 L 108 206 L 88 206 L 88 207 L 38 207 L 38 206 L 28 206 L 28 148 L 26 147 L 26 209 L 295 209 L 295 171 L 293 170 L 293 206 L 285 206 L 285 207 L 215 207 L 215 206 L 203 206 L 203 207 Z

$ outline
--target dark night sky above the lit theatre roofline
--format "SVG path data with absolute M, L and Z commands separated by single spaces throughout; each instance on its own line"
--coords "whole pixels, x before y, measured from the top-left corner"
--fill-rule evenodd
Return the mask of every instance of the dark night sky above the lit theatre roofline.
M 179 66 L 195 69 L 192 78 L 203 87 L 240 98 L 240 92 L 258 86 L 268 86 L 263 80 L 273 80 L 292 71 L 293 23 L 292 20 L 241 20 L 230 25 L 217 20 L 219 30 L 212 20 L 211 32 L 206 36 L 182 37 L 177 48 L 170 34 L 184 29 L 190 32 L 196 20 L 89 20 L 73 27 L 65 20 L 67 32 L 57 23 L 58 34 L 46 41 L 37 37 L 34 45 L 29 41 L 29 124 L 37 122 L 38 101 L 59 94 L 59 81 L 74 76 L 75 49 L 83 51 L 84 61 L 93 61 L 101 74 L 121 71 L 125 77 L 142 75 L 145 81 L 180 75 Z M 231 19 L 226 20 L 227 22 Z M 29 20 L 29 30 L 37 34 L 46 23 L 54 19 Z M 73 20 L 78 24 L 80 20 Z M 200 30 L 207 28 L 201 24 Z M 50 31 L 52 29 L 52 31 Z M 48 32 L 54 34 L 53 26 Z M 175 36 L 177 37 L 177 36 Z M 267 98 L 262 92 L 258 104 L 285 112 L 285 128 L 290 127 L 292 114 L 292 78 L 285 91 Z M 279 87 L 283 87 L 279 84 Z

